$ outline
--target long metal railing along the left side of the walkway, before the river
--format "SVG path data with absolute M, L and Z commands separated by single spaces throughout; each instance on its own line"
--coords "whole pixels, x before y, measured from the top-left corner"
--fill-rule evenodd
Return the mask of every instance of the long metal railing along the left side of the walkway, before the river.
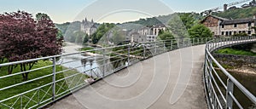
M 5 71 L 8 66 L 16 66 L 16 70 L 12 74 L 7 72 L 0 74 L 0 83 L 6 83 L 0 86 L 0 108 L 44 107 L 138 61 L 174 49 L 205 44 L 210 40 L 212 38 L 202 37 L 125 44 L 73 54 L 58 54 L 3 63 L 0 64 L 0 70 Z M 88 53 L 95 55 L 84 56 Z M 44 66 L 35 67 L 25 72 L 18 71 L 18 67 L 22 63 L 45 60 L 48 64 Z M 60 63 L 57 62 L 58 60 L 63 61 Z M 28 72 L 30 75 L 28 80 L 22 81 L 21 74 Z M 8 91 L 9 93 L 7 93 Z

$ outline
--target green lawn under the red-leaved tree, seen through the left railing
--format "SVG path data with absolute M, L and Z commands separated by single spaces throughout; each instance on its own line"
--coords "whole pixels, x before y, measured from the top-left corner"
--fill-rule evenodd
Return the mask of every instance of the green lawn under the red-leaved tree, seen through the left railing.
M 36 68 L 39 68 L 42 66 L 49 66 L 49 67 L 38 70 L 38 71 L 29 72 L 28 81 L 38 78 L 38 77 L 43 77 L 46 75 L 49 75 L 49 76 L 43 77 L 41 79 L 29 82 L 29 83 L 24 83 L 24 84 L 15 86 L 10 89 L 1 90 L 0 91 L 0 100 L 7 99 L 14 95 L 19 95 L 19 94 L 29 91 L 31 89 L 36 89 L 36 88 L 41 87 L 47 83 L 49 83 L 49 85 L 44 86 L 41 89 L 29 91 L 29 92 L 25 93 L 24 95 L 16 96 L 10 100 L 3 101 L 2 103 L 0 103 L 0 108 L 1 109 L 9 108 L 8 106 L 12 106 L 14 108 L 20 108 L 20 106 L 22 106 L 22 108 L 28 108 L 30 106 L 37 105 L 38 103 L 43 102 L 44 100 L 48 100 L 47 102 L 51 101 L 53 76 L 50 75 L 50 74 L 52 74 L 52 66 L 50 66 L 50 65 L 52 65 L 52 62 L 49 60 L 39 60 L 38 63 L 36 63 L 32 67 L 32 69 L 36 69 Z M 56 66 L 56 72 L 60 72 L 60 71 L 66 70 L 66 69 L 67 68 L 65 68 L 63 66 Z M 8 66 L 3 66 L 0 69 L 0 77 L 8 75 L 7 71 L 8 71 Z M 20 66 L 15 67 L 13 74 L 17 73 L 17 72 L 20 72 Z M 61 80 L 61 78 L 68 77 L 68 76 L 71 76 L 74 74 L 78 74 L 78 75 Z M 61 95 L 65 95 L 65 94 L 69 93 L 69 89 L 72 89 L 75 86 L 77 86 L 81 83 L 84 83 L 84 79 L 86 79 L 86 78 L 87 78 L 87 76 L 85 76 L 83 73 L 77 72 L 75 70 L 70 70 L 67 72 L 61 72 L 61 73 L 56 74 L 55 80 L 56 81 L 59 80 L 59 82 L 57 82 L 55 84 L 55 95 L 57 95 L 56 98 L 60 97 Z M 25 82 L 25 81 L 23 81 L 21 74 L 15 75 L 12 77 L 1 78 L 0 79 L 0 89 L 14 85 L 16 83 L 23 83 L 23 82 Z M 5 105 L 7 105 L 7 106 L 5 106 Z

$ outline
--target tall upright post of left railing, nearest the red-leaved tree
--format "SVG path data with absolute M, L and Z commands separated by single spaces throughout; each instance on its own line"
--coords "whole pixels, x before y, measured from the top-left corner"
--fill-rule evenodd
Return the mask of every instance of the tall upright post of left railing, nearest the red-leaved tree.
M 56 77 L 55 77 L 55 72 L 56 72 L 56 58 L 54 57 L 53 60 L 52 60 L 52 73 L 53 73 L 53 76 L 52 76 L 52 100 L 55 100 L 55 80 L 56 80 Z

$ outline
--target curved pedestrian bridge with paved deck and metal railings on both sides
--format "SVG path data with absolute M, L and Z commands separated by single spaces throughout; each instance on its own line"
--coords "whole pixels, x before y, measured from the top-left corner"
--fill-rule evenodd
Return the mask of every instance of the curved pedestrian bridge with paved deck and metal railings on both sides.
M 0 91 L 4 91 L 38 82 L 45 77 L 51 78 L 49 83 L 0 100 L 0 107 L 247 108 L 233 95 L 234 87 L 246 95 L 252 104 L 256 104 L 255 96 L 219 65 L 211 52 L 231 45 L 253 42 L 256 42 L 255 37 L 177 39 L 4 63 L 0 66 L 51 59 L 52 65 L 28 72 L 39 71 L 45 67 L 52 67 L 52 72 L 1 88 Z M 88 52 L 93 56 L 86 55 Z M 94 54 L 101 56 L 96 57 Z M 76 61 L 79 63 L 75 63 Z M 60 66 L 63 69 L 57 70 Z M 224 73 L 226 80 L 219 77 L 220 72 Z M 22 73 L 26 72 L 2 76 L 0 80 Z

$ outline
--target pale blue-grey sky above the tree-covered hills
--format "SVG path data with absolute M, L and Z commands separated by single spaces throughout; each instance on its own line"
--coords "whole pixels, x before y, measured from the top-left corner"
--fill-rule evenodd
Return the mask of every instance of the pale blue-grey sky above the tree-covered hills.
M 33 16 L 45 13 L 55 23 L 83 20 L 85 17 L 99 23 L 117 23 L 173 12 L 200 13 L 237 1 L 241 0 L 0 0 L 0 13 L 17 10 Z

